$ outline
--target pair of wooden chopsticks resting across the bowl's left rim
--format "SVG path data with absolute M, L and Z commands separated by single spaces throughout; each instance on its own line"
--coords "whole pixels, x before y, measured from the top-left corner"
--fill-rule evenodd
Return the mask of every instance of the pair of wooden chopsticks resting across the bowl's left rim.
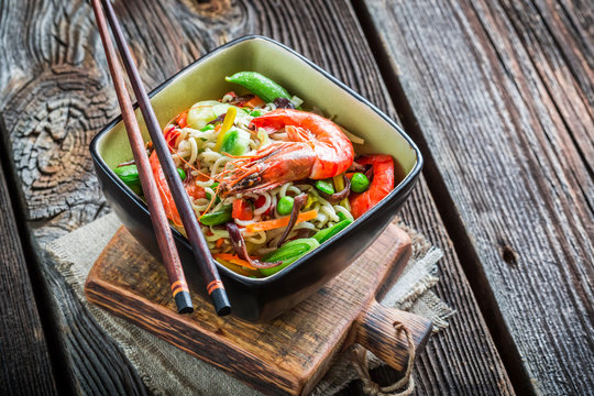
M 118 18 L 116 16 L 116 12 L 111 6 L 111 0 L 91 0 L 91 3 L 95 11 L 97 25 L 99 28 L 99 33 L 101 35 L 101 41 L 103 43 L 103 48 L 106 51 L 109 70 L 113 79 L 116 94 L 122 111 L 123 122 L 128 131 L 130 145 L 132 146 L 132 153 L 139 169 L 144 197 L 148 204 L 148 210 L 151 212 L 153 228 L 157 237 L 158 248 L 163 256 L 169 283 L 172 285 L 172 293 L 177 306 L 177 310 L 179 314 L 189 314 L 194 311 L 194 307 L 191 305 L 189 289 L 186 284 L 186 276 L 184 275 L 184 270 L 182 268 L 182 262 L 179 261 L 179 254 L 176 250 L 167 216 L 165 215 L 165 209 L 163 208 L 161 201 L 157 185 L 153 178 L 153 175 L 151 174 L 148 156 L 146 155 L 139 122 L 134 116 L 132 101 L 125 87 L 122 68 L 118 62 L 113 43 L 111 42 L 106 23 L 106 14 L 109 25 L 113 32 L 116 43 L 118 44 L 118 50 L 120 51 L 120 56 L 128 73 L 130 84 L 132 85 L 134 95 L 138 98 L 148 134 L 151 135 L 153 145 L 156 150 L 158 162 L 161 163 L 167 185 L 172 191 L 175 206 L 177 207 L 182 222 L 184 223 L 194 255 L 199 264 L 202 279 L 207 285 L 207 293 L 215 305 L 215 310 L 217 314 L 219 316 L 229 315 L 231 312 L 231 306 L 229 304 L 224 286 L 219 277 L 217 266 L 215 265 L 205 237 L 202 235 L 202 232 L 198 226 L 198 220 L 194 209 L 191 208 L 189 197 L 186 194 L 186 190 L 184 189 L 182 180 L 177 174 L 177 168 L 175 167 L 173 158 L 169 154 L 169 147 L 165 142 L 163 133 L 161 133 L 161 127 L 158 125 L 155 112 L 140 78 L 139 70 L 132 61 L 132 55 L 123 36 Z

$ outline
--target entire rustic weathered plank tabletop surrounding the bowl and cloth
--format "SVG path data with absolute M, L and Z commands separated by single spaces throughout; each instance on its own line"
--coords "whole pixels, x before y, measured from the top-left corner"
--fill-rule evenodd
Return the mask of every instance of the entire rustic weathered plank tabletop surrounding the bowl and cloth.
M 402 211 L 446 257 L 451 326 L 417 394 L 594 392 L 594 4 L 116 1 L 155 87 L 271 36 L 398 120 L 424 176 Z M 86 1 L 0 0 L 0 389 L 145 394 L 40 248 L 109 212 L 88 152 L 118 113 Z M 374 373 L 378 381 L 394 376 Z M 345 395 L 361 393 L 355 382 Z

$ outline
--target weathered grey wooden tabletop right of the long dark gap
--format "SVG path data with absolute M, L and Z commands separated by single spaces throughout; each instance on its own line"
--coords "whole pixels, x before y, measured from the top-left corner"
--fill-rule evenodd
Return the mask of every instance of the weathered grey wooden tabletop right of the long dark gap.
M 594 8 L 366 4 L 384 75 L 398 81 L 392 95 L 422 134 L 432 190 L 519 389 L 591 392 Z

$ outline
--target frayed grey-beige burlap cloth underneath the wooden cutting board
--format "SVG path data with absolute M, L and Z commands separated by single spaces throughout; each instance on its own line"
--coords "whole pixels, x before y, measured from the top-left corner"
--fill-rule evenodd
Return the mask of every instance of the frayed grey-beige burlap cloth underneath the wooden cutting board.
M 146 387 L 156 395 L 261 395 L 244 383 L 150 332 L 87 302 L 84 295 L 87 274 L 120 226 L 121 222 L 114 215 L 105 216 L 48 243 L 45 251 L 73 287 L 82 306 L 121 346 Z M 413 238 L 413 256 L 382 304 L 431 319 L 433 331 L 439 331 L 448 326 L 447 319 L 453 314 L 448 305 L 429 290 L 439 280 L 437 262 L 442 252 L 432 248 L 414 230 L 405 230 Z M 381 364 L 377 358 L 369 354 L 367 367 L 367 355 L 362 354 L 361 350 L 350 351 L 337 360 L 312 395 L 332 395 L 349 382 L 362 376 L 367 393 L 391 394 L 396 389 L 380 388 L 372 384 L 366 375 L 369 369 Z

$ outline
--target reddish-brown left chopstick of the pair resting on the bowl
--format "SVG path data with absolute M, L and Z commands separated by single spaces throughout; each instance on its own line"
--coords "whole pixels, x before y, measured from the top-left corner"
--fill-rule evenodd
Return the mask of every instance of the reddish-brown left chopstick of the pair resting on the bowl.
M 107 28 L 105 15 L 101 11 L 99 0 L 92 0 L 92 7 L 95 10 L 95 16 L 97 19 L 97 25 L 99 26 L 99 33 L 106 50 L 106 56 L 109 64 L 109 70 L 113 78 L 113 86 L 116 88 L 116 95 L 122 110 L 122 119 L 128 132 L 128 139 L 132 147 L 132 154 L 139 169 L 139 176 L 141 179 L 144 197 L 148 204 L 148 211 L 151 212 L 151 220 L 153 222 L 153 229 L 157 237 L 158 249 L 165 264 L 167 277 L 172 285 L 172 293 L 179 314 L 190 314 L 194 311 L 191 305 L 191 298 L 188 286 L 186 284 L 186 276 L 182 268 L 182 262 L 179 261 L 179 254 L 175 248 L 172 230 L 165 209 L 158 195 L 158 189 L 154 177 L 151 174 L 151 165 L 148 163 L 148 155 L 144 147 L 142 134 L 139 128 L 139 122 L 134 116 L 134 109 L 132 101 L 125 88 L 123 72 L 117 61 L 116 50 L 111 43 L 109 31 Z

